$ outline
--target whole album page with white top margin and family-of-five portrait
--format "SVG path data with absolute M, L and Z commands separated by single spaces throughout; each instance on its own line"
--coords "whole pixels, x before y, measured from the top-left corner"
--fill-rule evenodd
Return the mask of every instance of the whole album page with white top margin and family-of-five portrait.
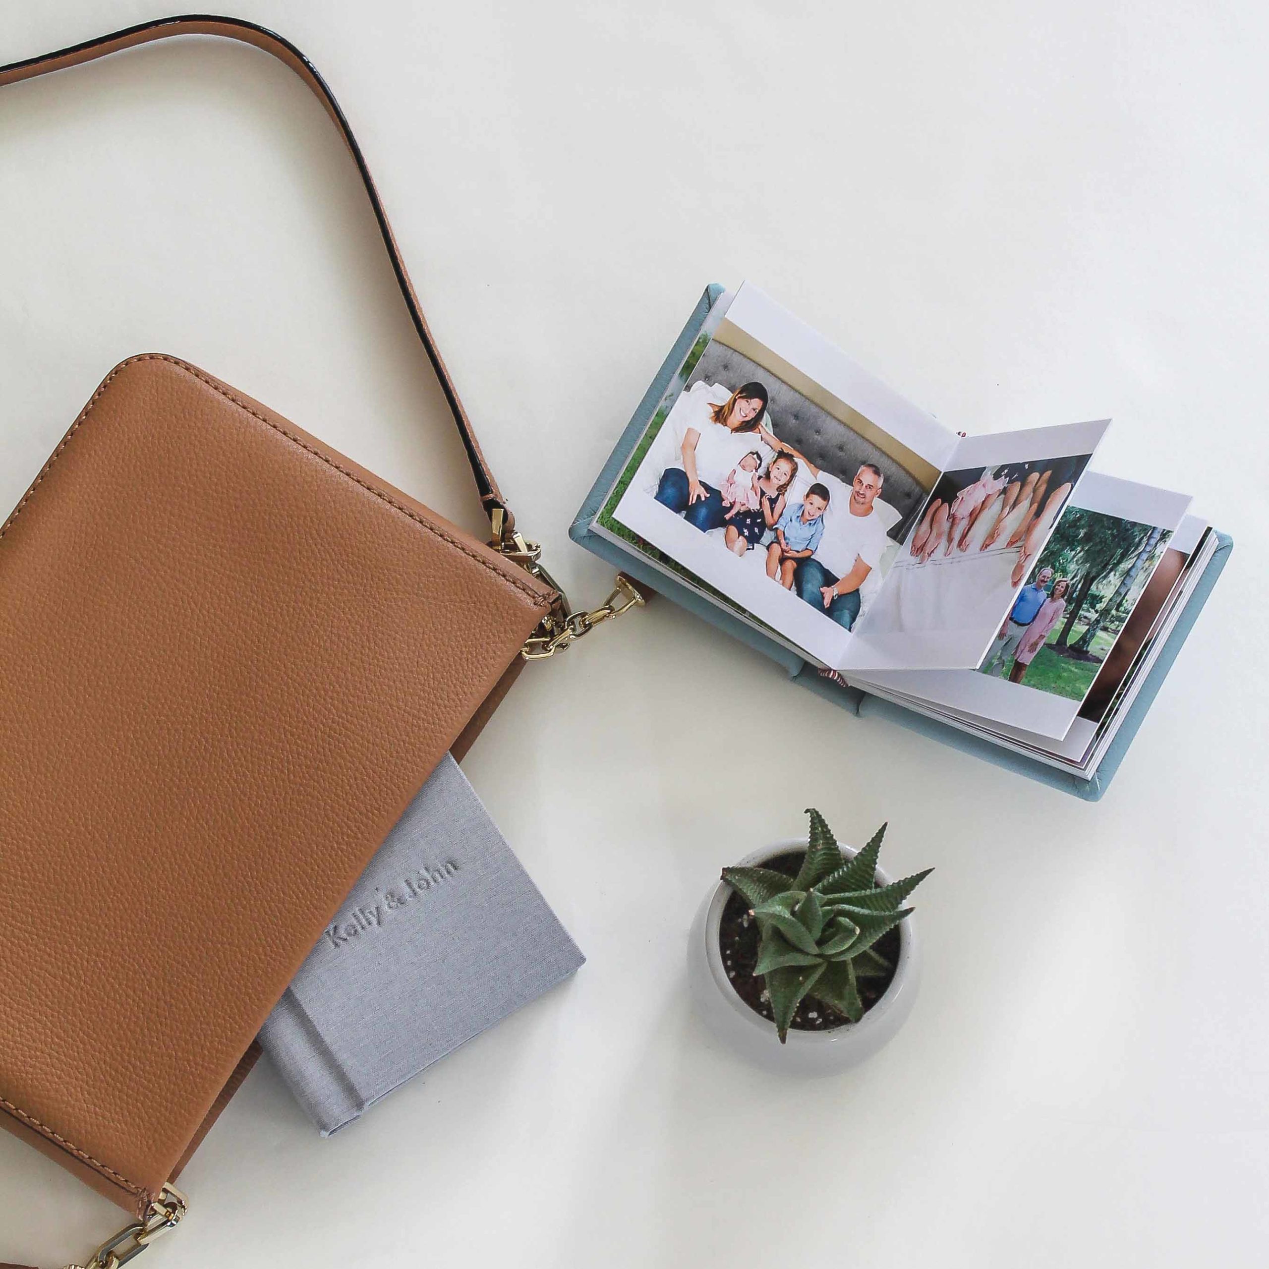
M 836 666 L 957 445 L 746 283 L 711 313 L 595 527 Z

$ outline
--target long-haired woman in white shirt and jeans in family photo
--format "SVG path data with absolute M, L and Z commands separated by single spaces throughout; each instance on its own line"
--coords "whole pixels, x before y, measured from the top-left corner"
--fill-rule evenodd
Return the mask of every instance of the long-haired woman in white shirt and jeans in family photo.
M 690 400 L 693 407 L 679 448 L 681 467 L 661 472 L 656 500 L 708 533 L 727 523 L 721 492 L 727 473 L 755 448 L 755 434 L 772 449 L 775 438 L 763 426 L 766 388 L 761 383 L 742 383 L 731 393 L 718 385 L 703 392 L 702 387 L 679 398 L 684 405 Z M 764 463 L 768 457 L 763 454 Z

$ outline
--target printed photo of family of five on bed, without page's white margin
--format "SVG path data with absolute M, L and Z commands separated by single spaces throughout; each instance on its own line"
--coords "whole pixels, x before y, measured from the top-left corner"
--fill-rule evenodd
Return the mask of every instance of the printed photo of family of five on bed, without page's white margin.
M 825 656 L 867 612 L 939 475 L 726 321 L 698 340 L 637 457 L 613 527 Z

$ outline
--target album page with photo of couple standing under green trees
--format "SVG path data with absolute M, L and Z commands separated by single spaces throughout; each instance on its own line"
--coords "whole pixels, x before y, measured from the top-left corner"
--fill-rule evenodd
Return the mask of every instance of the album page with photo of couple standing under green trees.
M 854 681 L 1004 725 L 1016 739 L 1060 740 L 1104 695 L 1108 671 L 1121 666 L 1123 676 L 1142 621 L 1170 594 L 1189 552 L 1169 547 L 1183 520 L 1193 522 L 1189 504 L 1185 494 L 1089 472 L 977 670 L 881 671 Z M 970 532 L 971 549 L 981 537 Z

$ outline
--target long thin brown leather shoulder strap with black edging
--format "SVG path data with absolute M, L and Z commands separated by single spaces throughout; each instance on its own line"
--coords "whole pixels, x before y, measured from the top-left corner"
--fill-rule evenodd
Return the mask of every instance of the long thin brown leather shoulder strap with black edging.
M 445 363 L 440 359 L 440 353 L 437 352 L 437 343 L 428 329 L 426 319 L 423 316 L 423 308 L 419 306 L 419 297 L 415 294 L 414 286 L 410 282 L 410 274 L 406 273 L 405 261 L 401 259 L 401 251 L 392 235 L 392 226 L 388 223 L 387 213 L 383 211 L 383 202 L 371 178 L 365 156 L 357 143 L 357 137 L 353 136 L 353 129 L 349 127 L 344 112 L 335 100 L 335 94 L 331 93 L 326 81 L 317 74 L 313 63 L 289 39 L 264 27 L 258 27 L 254 22 L 245 22 L 241 18 L 223 18 L 216 14 L 184 14 L 175 18 L 159 18 L 155 22 L 145 22 L 136 27 L 128 27 L 124 30 L 115 30 L 109 36 L 89 39 L 82 44 L 72 44 L 70 48 L 61 48 L 53 53 L 44 53 L 41 57 L 28 57 L 22 62 L 0 66 L 0 88 L 5 84 L 16 84 L 19 80 L 34 79 L 37 75 L 65 70 L 69 66 L 79 66 L 81 62 L 90 62 L 124 48 L 133 48 L 137 44 L 148 44 L 156 39 L 168 39 L 171 36 L 222 36 L 226 39 L 236 39 L 244 44 L 254 44 L 256 48 L 263 48 L 266 53 L 277 57 L 284 66 L 291 67 L 308 85 L 317 100 L 321 102 L 331 122 L 339 128 L 339 133 L 344 138 L 344 145 L 353 156 L 358 173 L 360 173 L 362 184 L 365 187 L 365 195 L 371 201 L 371 208 L 379 225 L 379 233 L 383 236 L 383 245 L 387 247 L 388 259 L 392 261 L 392 272 L 396 274 L 397 286 L 401 288 L 401 296 L 405 299 L 406 308 L 410 311 L 410 319 L 414 322 L 414 329 L 419 335 L 424 352 L 428 354 L 428 360 L 431 362 L 431 368 L 437 372 L 437 378 L 440 381 L 440 387 L 445 393 L 445 401 L 449 405 L 449 412 L 454 418 L 458 434 L 462 437 L 463 448 L 467 450 L 467 461 L 471 463 L 472 475 L 476 477 L 476 489 L 480 492 L 481 503 L 490 519 L 495 523 L 499 536 L 508 533 L 514 523 L 511 514 L 503 501 L 497 481 L 494 480 L 494 473 L 490 471 L 489 463 L 481 453 L 471 420 L 467 418 L 467 411 L 458 398 L 458 390 L 449 377 L 449 371 L 445 369 Z M 495 514 L 499 511 L 503 513 L 500 516 Z

